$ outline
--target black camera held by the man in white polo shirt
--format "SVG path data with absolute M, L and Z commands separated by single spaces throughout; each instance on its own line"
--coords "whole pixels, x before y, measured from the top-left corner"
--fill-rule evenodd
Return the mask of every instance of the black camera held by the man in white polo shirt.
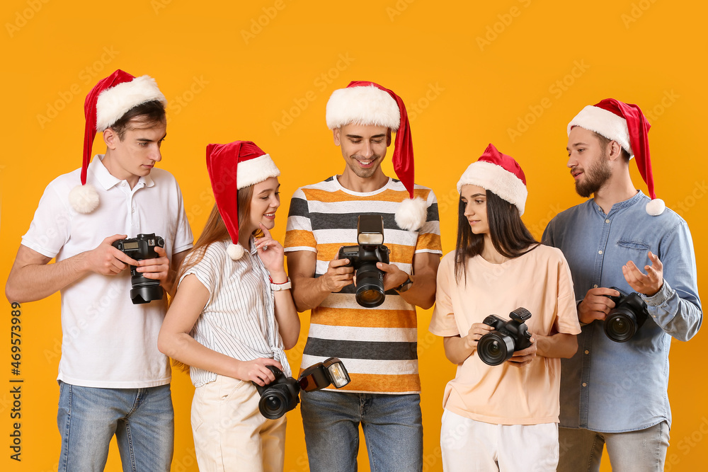
M 154 233 L 138 234 L 137 238 L 120 239 L 113 243 L 113 247 L 122 251 L 125 255 L 135 260 L 159 258 L 155 252 L 156 247 L 165 247 L 165 240 Z M 149 303 L 153 300 L 161 300 L 163 291 L 160 281 L 147 279 L 142 273 L 137 272 L 135 265 L 130 266 L 130 299 L 133 304 Z

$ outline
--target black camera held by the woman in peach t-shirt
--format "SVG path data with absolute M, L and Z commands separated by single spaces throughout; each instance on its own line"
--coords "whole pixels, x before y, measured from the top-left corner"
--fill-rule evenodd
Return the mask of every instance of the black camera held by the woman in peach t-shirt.
M 482 323 L 494 328 L 477 342 L 477 355 L 488 365 L 499 365 L 514 355 L 514 351 L 531 346 L 531 333 L 526 327 L 526 320 L 531 318 L 527 309 L 520 307 L 509 313 L 506 321 L 496 315 L 489 315 Z

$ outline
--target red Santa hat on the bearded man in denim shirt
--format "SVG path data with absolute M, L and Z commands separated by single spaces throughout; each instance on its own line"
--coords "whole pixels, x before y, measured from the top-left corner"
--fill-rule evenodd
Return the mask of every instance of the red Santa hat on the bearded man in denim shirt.
M 597 105 L 583 108 L 568 124 L 568 134 L 573 126 L 589 129 L 607 139 L 616 141 L 627 151 L 629 159 L 634 158 L 639 174 L 649 190 L 651 202 L 646 204 L 646 212 L 656 217 L 663 213 L 666 204 L 656 198 L 654 178 L 649 157 L 649 122 L 637 105 L 622 103 L 614 98 L 605 98 Z

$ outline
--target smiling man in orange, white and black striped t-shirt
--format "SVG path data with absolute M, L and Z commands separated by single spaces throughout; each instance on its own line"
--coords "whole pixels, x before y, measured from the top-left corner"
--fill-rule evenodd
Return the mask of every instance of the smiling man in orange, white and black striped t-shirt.
M 423 425 L 418 378 L 416 306 L 435 301 L 442 255 L 435 194 L 413 183 L 413 147 L 406 108 L 392 91 L 352 82 L 327 103 L 327 125 L 341 147 L 341 175 L 297 189 L 290 202 L 285 251 L 298 311 L 312 310 L 302 367 L 339 357 L 351 383 L 302 396 L 310 469 L 356 471 L 359 424 L 377 470 L 419 471 Z M 396 132 L 394 169 L 381 162 Z M 411 197 L 409 199 L 408 197 Z M 389 264 L 384 303 L 355 301 L 353 268 L 338 260 L 355 246 L 361 214 L 383 217 Z

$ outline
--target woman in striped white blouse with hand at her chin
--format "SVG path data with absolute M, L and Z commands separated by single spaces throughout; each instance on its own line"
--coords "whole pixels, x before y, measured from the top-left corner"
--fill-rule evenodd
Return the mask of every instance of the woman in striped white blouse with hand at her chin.
M 207 169 L 216 205 L 179 270 L 158 345 L 190 366 L 200 471 L 282 471 L 285 416 L 264 418 L 253 385 L 275 380 L 268 366 L 290 375 L 284 350 L 300 328 L 269 232 L 280 171 L 252 142 L 210 144 Z

